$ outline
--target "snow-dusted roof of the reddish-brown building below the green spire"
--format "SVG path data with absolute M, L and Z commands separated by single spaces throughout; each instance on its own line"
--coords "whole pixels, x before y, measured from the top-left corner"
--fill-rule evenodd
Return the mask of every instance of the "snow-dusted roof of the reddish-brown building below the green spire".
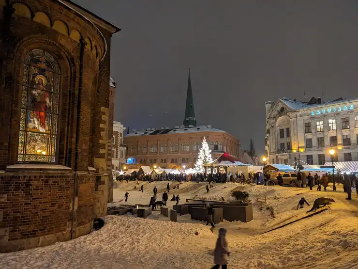
M 178 126 L 177 126 L 178 127 Z M 148 128 L 142 131 L 135 131 L 133 133 L 129 133 L 126 136 L 140 136 L 140 135 L 160 135 L 160 134 L 167 134 L 167 133 L 193 133 L 193 132 L 224 132 L 223 130 L 219 130 L 216 128 L 212 128 L 210 125 L 201 125 L 201 126 L 190 126 L 184 127 L 180 126 L 178 128 L 164 128 L 164 129 L 157 129 L 157 128 Z

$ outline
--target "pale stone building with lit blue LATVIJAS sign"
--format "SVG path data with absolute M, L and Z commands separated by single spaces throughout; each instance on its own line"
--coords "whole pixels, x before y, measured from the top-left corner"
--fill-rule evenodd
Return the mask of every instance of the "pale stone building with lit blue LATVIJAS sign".
M 266 102 L 265 149 L 269 163 L 324 165 L 358 160 L 358 99 L 298 102 L 288 98 Z

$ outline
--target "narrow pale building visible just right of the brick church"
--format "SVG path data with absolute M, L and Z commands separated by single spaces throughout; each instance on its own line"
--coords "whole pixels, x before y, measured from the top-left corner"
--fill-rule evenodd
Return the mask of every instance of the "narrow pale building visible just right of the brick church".
M 123 132 L 126 128 L 120 122 L 113 122 L 112 169 L 123 170 L 126 162 L 126 145 L 123 143 Z

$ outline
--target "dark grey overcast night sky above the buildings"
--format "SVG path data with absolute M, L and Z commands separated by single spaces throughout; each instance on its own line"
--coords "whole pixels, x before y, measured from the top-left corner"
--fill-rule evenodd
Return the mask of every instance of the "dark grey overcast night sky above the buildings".
M 188 68 L 198 125 L 254 140 L 265 101 L 357 98 L 357 0 L 73 0 L 118 26 L 114 119 L 130 130 L 184 118 Z

